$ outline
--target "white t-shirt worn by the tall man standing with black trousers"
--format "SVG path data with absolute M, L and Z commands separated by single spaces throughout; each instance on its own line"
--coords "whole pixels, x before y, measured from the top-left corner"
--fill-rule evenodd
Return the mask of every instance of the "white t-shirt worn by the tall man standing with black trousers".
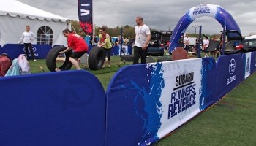
M 143 24 L 143 26 L 135 26 L 135 46 L 143 47 L 148 34 L 151 34 L 150 29 L 145 24 Z

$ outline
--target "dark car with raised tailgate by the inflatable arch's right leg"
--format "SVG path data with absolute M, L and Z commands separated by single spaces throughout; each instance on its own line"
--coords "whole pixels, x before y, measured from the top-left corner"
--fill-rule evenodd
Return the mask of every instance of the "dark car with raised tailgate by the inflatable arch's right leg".
M 228 30 L 225 33 L 227 38 L 225 43 L 225 54 L 245 53 L 248 52 L 243 44 L 243 37 L 240 32 Z M 221 39 L 222 40 L 222 39 Z

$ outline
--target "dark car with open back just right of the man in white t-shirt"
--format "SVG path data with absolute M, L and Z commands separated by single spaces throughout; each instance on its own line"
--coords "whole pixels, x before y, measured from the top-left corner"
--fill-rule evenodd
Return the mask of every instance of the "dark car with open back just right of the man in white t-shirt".
M 147 55 L 161 55 L 165 53 L 165 47 L 162 44 L 162 32 L 151 31 L 151 40 L 148 44 L 148 54 Z

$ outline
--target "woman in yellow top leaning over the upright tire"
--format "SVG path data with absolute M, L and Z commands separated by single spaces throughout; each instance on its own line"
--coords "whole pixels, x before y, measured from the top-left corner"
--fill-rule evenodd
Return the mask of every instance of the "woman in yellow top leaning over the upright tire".
M 99 42 L 98 42 L 98 47 L 103 47 L 105 50 L 105 55 L 108 57 L 108 67 L 110 68 L 110 53 L 112 49 L 112 45 L 110 42 L 110 35 L 106 33 L 105 28 L 99 28 Z M 105 56 L 106 57 L 106 56 Z M 104 64 L 102 68 L 105 68 L 106 61 L 104 61 Z

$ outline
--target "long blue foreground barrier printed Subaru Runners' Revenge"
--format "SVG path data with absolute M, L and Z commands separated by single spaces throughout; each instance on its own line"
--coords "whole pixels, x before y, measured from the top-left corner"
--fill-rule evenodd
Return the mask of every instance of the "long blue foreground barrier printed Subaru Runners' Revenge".
M 0 78 L 0 145 L 151 145 L 255 72 L 255 52 Z

